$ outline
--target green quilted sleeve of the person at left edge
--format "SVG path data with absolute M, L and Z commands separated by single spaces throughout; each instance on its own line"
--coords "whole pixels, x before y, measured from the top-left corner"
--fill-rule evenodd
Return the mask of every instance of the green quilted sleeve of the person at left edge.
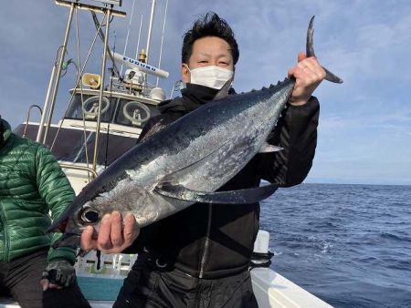
M 51 213 L 53 221 L 66 209 L 74 199 L 75 193 L 71 185 L 58 165 L 57 159 L 44 146 L 37 149 L 37 188 L 40 196 L 47 204 L 47 212 Z M 58 241 L 62 234 L 52 233 L 51 243 Z M 48 261 L 51 259 L 65 259 L 71 264 L 76 261 L 76 252 L 68 247 L 50 248 L 48 251 Z

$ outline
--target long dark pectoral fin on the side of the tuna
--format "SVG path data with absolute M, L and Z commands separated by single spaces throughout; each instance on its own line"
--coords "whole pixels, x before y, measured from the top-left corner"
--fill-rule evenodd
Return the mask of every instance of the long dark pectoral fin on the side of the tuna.
M 179 184 L 163 183 L 154 190 L 165 197 L 178 200 L 201 203 L 248 204 L 269 198 L 278 188 L 278 184 L 269 184 L 245 190 L 206 192 L 190 190 Z

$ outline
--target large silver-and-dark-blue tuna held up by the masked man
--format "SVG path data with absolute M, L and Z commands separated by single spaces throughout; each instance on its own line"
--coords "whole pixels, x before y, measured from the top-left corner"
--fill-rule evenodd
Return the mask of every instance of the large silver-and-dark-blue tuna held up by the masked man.
M 312 22 L 307 54 L 313 56 Z M 328 74 L 327 79 L 342 82 Z M 159 221 L 196 201 L 251 203 L 269 197 L 277 186 L 214 192 L 232 179 L 258 151 L 277 150 L 266 139 L 294 87 L 277 86 L 227 96 L 225 85 L 213 102 L 154 133 L 90 182 L 50 231 L 63 231 L 58 246 L 79 245 L 88 225 L 99 229 L 105 213 L 132 211 L 138 224 Z M 221 98 L 224 97 L 224 98 Z

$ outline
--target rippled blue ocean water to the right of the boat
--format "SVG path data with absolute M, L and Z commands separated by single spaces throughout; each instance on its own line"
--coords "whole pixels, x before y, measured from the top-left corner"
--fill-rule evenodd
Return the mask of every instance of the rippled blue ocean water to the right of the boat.
M 335 307 L 411 307 L 411 186 L 301 184 L 261 203 L 271 268 Z

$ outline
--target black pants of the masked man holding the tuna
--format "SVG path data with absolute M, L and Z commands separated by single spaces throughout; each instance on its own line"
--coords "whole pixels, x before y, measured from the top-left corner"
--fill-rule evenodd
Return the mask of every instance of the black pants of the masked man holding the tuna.
M 140 254 L 124 280 L 113 308 L 126 307 L 258 307 L 248 271 L 220 279 L 198 279 L 179 270 L 158 267 Z

